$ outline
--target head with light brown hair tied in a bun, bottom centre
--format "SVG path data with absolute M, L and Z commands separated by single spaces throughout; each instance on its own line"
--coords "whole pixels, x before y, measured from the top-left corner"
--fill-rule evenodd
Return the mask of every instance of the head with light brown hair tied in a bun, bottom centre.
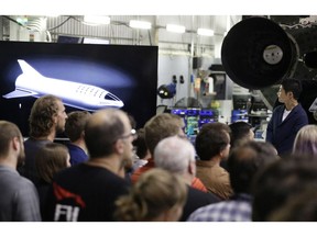
M 178 176 L 153 168 L 141 174 L 130 194 L 119 198 L 116 216 L 123 222 L 176 222 L 186 198 L 186 184 Z

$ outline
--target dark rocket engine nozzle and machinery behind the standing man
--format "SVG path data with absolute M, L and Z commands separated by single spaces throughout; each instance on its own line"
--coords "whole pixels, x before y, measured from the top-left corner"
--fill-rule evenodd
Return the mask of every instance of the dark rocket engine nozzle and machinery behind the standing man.
M 300 79 L 299 102 L 309 123 L 317 123 L 310 105 L 317 98 L 317 20 L 314 16 L 244 16 L 223 40 L 221 60 L 239 86 L 259 90 L 273 109 L 285 78 Z M 317 106 L 316 106 L 317 108 Z

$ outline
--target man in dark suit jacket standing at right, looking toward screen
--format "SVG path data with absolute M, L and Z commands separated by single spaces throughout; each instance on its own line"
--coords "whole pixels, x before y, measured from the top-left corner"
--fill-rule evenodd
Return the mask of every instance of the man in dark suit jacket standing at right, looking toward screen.
M 278 101 L 284 103 L 274 109 L 266 128 L 266 142 L 276 148 L 278 155 L 292 151 L 297 132 L 308 124 L 306 111 L 298 103 L 302 83 L 296 79 L 283 80 L 277 92 Z

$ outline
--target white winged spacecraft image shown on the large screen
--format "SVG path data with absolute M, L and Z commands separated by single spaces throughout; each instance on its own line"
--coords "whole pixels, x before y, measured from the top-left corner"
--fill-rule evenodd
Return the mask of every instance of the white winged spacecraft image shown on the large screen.
M 96 111 L 109 106 L 123 106 L 118 97 L 102 88 L 44 77 L 26 61 L 18 59 L 18 63 L 22 74 L 15 80 L 15 90 L 2 95 L 6 99 L 54 94 L 61 98 L 64 104 L 81 110 Z

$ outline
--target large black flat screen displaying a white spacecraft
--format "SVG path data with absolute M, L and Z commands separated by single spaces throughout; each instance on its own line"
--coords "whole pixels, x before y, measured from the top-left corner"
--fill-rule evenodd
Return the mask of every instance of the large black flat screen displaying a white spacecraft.
M 0 42 L 0 120 L 29 135 L 36 98 L 55 94 L 66 112 L 113 106 L 136 126 L 155 115 L 157 46 Z

